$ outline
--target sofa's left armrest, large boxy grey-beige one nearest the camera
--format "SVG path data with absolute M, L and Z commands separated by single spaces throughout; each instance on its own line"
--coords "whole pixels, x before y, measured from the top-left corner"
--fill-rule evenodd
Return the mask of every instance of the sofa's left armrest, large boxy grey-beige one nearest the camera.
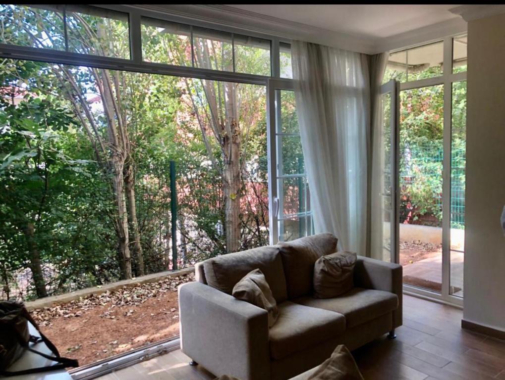
M 216 376 L 269 379 L 268 313 L 199 282 L 179 286 L 181 349 Z

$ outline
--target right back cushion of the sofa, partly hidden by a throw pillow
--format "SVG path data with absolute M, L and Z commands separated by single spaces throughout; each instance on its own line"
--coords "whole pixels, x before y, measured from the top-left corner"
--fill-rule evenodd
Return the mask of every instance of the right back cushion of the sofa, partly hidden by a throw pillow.
M 278 245 L 286 276 L 288 298 L 312 295 L 314 263 L 321 256 L 337 250 L 337 238 L 331 233 L 321 233 Z

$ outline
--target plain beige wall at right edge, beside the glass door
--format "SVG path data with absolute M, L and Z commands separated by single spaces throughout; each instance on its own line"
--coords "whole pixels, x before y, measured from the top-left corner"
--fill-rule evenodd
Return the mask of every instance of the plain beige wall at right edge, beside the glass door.
M 505 14 L 468 23 L 464 319 L 505 331 Z

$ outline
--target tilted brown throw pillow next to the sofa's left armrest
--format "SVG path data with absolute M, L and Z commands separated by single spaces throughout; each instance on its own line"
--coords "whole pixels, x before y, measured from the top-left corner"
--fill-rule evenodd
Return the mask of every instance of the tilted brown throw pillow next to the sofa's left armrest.
M 247 273 L 233 287 L 233 296 L 268 311 L 268 327 L 277 321 L 279 310 L 265 276 L 259 269 Z

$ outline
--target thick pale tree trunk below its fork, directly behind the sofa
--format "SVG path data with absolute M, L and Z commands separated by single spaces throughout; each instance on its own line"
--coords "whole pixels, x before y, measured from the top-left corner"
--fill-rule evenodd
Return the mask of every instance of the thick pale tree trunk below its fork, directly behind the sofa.
M 240 249 L 240 131 L 236 119 L 230 122 L 231 137 L 224 135 L 223 150 L 228 152 L 223 170 L 225 199 L 226 251 Z

